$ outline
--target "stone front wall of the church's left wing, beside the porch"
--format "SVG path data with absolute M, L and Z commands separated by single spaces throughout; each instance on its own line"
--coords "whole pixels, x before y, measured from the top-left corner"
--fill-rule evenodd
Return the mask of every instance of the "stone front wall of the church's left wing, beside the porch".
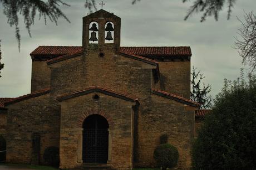
M 32 156 L 32 135 L 40 134 L 40 160 L 47 147 L 59 147 L 60 112 L 50 105 L 50 94 L 22 100 L 6 106 L 7 116 L 7 162 L 37 163 Z

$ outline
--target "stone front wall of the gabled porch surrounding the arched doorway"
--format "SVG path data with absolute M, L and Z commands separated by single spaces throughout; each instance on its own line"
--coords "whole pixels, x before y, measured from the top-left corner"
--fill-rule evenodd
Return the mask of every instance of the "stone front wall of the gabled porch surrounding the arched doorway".
M 93 95 L 99 95 L 94 100 Z M 99 114 L 109 122 L 111 152 L 108 164 L 116 169 L 132 167 L 133 110 L 135 102 L 92 92 L 61 102 L 61 168 L 82 164 L 82 123 L 87 116 Z M 79 107 L 78 107 L 79 106 Z

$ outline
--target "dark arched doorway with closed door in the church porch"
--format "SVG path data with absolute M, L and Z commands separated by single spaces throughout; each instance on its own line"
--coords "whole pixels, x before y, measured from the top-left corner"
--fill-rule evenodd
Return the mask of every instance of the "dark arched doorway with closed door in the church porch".
M 88 116 L 83 122 L 84 163 L 107 163 L 109 150 L 109 123 L 101 115 Z

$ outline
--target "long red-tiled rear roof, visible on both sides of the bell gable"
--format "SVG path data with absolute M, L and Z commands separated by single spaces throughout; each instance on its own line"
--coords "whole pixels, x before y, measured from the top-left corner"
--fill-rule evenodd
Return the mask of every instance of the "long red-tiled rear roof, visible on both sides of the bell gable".
M 149 59 L 190 57 L 190 47 L 120 47 L 120 52 L 144 56 Z M 39 46 L 30 54 L 32 59 L 48 60 L 61 55 L 82 53 L 81 46 Z

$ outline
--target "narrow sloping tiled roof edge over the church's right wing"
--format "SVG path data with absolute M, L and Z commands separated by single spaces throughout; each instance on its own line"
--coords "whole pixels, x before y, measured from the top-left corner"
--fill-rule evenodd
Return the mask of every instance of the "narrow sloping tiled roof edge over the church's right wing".
M 200 106 L 200 104 L 198 102 L 186 99 L 186 98 L 178 96 L 178 95 L 170 94 L 166 91 L 157 90 L 157 89 L 152 89 L 151 91 L 152 91 L 153 94 L 156 94 L 156 95 L 159 95 L 159 96 L 162 96 L 162 97 L 166 97 L 168 99 L 175 100 L 175 101 L 178 101 L 178 102 L 182 102 L 184 104 L 187 104 L 187 105 L 190 105 L 190 106 L 193 106 L 193 107 L 199 107 Z

